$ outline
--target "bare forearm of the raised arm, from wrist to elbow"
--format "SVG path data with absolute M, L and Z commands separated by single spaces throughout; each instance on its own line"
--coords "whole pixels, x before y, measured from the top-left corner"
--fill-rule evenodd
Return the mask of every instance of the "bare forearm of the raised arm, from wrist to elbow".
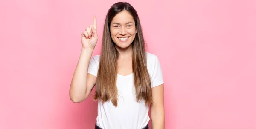
M 87 71 L 93 49 L 82 49 L 79 61 L 70 85 L 70 99 L 73 102 L 81 102 L 85 99 L 87 88 Z

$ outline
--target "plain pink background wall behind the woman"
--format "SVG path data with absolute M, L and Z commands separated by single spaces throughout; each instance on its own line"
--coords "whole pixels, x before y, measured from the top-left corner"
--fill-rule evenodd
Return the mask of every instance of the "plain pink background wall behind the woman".
M 0 129 L 94 129 L 72 103 L 80 34 L 117 0 L 1 0 Z M 128 0 L 165 80 L 166 129 L 256 129 L 255 0 Z M 101 4 L 101 5 L 100 5 Z

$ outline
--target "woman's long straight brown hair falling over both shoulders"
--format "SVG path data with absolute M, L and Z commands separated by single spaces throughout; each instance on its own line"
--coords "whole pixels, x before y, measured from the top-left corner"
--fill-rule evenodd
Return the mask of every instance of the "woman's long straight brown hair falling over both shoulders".
M 113 40 L 110 36 L 110 23 L 116 14 L 126 10 L 134 17 L 137 33 L 132 45 L 132 69 L 134 75 L 134 86 L 136 91 L 137 102 L 145 100 L 145 104 L 153 103 L 151 93 L 151 80 L 147 69 L 147 55 L 145 51 L 145 41 L 140 25 L 140 19 L 137 11 L 129 3 L 118 2 L 113 4 L 108 10 L 104 31 L 102 37 L 102 49 L 99 61 L 99 70 L 96 78 L 95 100 L 106 102 L 111 100 L 114 106 L 117 106 L 117 59 L 119 52 L 116 50 Z

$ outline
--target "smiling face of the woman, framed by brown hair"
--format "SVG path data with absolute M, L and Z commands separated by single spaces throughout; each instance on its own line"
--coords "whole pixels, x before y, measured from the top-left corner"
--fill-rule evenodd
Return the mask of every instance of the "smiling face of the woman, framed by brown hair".
M 113 17 L 110 24 L 110 33 L 113 42 L 120 49 L 126 49 L 131 45 L 137 30 L 135 21 L 128 11 L 121 11 Z

